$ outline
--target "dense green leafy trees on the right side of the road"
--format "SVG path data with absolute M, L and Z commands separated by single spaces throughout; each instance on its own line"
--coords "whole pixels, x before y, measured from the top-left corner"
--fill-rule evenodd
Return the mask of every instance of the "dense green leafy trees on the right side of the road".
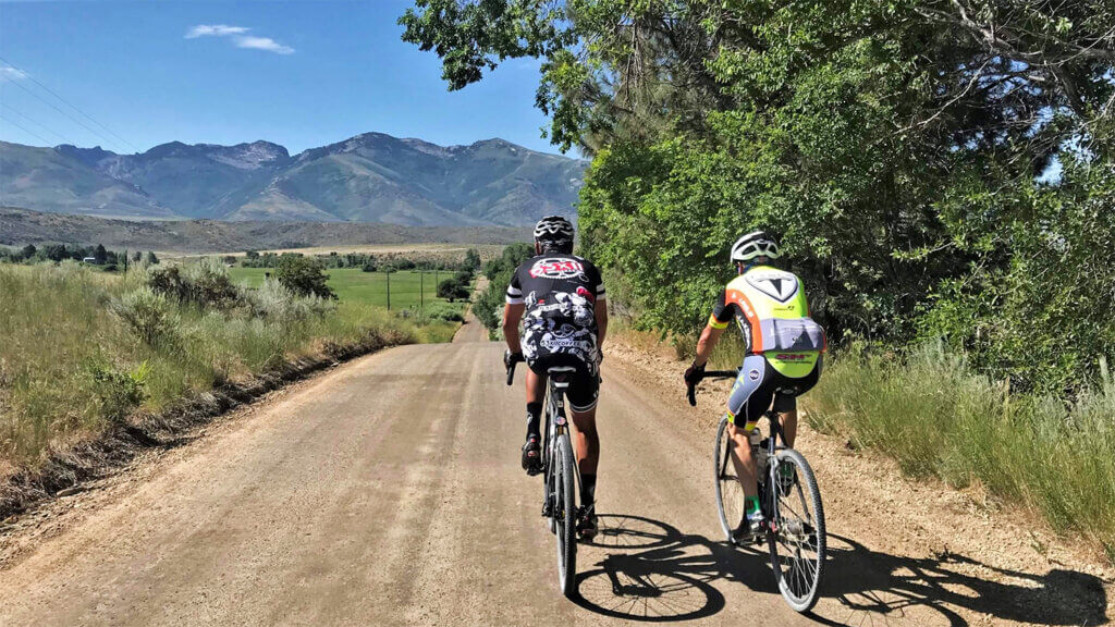
M 584 251 L 639 324 L 694 332 L 763 228 L 834 338 L 943 336 L 1057 390 L 1112 346 L 1109 2 L 423 0 L 400 21 L 450 88 L 543 59 L 551 139 L 594 157 Z

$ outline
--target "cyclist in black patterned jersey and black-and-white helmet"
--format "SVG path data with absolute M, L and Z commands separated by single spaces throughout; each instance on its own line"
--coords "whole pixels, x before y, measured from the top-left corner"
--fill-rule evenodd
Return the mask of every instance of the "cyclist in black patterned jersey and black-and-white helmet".
M 534 228 L 535 257 L 516 270 L 507 286 L 503 334 L 507 340 L 505 365 L 525 360 L 526 443 L 523 469 L 542 471 L 540 422 L 545 399 L 546 370 L 553 366 L 576 369 L 566 398 L 572 414 L 573 445 L 581 471 L 578 530 L 591 539 L 597 531 L 594 511 L 597 462 L 597 396 L 600 390 L 600 348 L 608 330 L 608 306 L 600 271 L 573 255 L 573 225 L 564 218 L 543 218 Z M 520 336 L 518 325 L 523 322 Z

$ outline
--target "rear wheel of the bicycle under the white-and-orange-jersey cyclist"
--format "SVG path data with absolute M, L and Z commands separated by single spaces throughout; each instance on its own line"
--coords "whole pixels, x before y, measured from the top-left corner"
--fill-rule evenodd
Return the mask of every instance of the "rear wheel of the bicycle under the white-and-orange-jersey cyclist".
M 817 602 L 825 563 L 825 512 L 813 469 L 793 448 L 778 451 L 767 475 L 774 504 L 774 530 L 768 534 L 770 566 L 778 591 L 796 611 Z M 780 470 L 788 465 L 793 472 Z M 779 481 L 779 475 L 788 476 Z

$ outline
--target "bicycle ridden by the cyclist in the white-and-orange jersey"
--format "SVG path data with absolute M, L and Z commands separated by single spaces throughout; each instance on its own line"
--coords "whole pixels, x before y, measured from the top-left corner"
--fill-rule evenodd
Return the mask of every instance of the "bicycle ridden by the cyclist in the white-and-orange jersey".
M 709 370 L 705 378 L 733 378 L 739 370 Z M 697 405 L 696 387 L 689 387 L 689 404 Z M 778 444 L 785 434 L 774 412 L 763 414 L 770 426 L 770 434 L 752 437 L 752 452 L 758 466 L 759 505 L 766 518 L 765 538 L 753 538 L 756 544 L 764 539 L 770 552 L 770 567 L 775 582 L 786 602 L 795 611 L 806 612 L 817 602 L 821 575 L 825 562 L 825 513 L 821 490 L 808 462 L 797 451 Z M 758 433 L 758 426 L 755 432 Z M 716 470 L 716 507 L 720 527 L 727 541 L 737 544 L 734 532 L 744 520 L 744 491 L 731 464 L 731 438 L 728 436 L 728 417 L 720 418 L 716 432 L 714 464 Z M 787 469 L 788 470 L 784 470 Z M 803 486 L 804 483 L 804 486 Z M 792 498 L 796 496 L 796 508 Z M 780 548 L 780 552 L 779 552 Z M 785 553 L 785 556 L 783 554 Z

